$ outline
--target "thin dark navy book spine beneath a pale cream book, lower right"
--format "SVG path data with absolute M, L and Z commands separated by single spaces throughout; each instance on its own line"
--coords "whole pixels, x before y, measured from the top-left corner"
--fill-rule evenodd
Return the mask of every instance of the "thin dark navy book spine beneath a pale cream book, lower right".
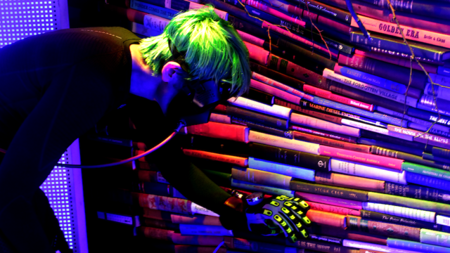
M 369 204 L 378 205 L 375 203 L 369 203 Z M 363 208 L 364 208 L 364 205 L 365 204 L 363 204 Z M 426 222 L 426 221 L 418 221 L 416 219 L 406 219 L 403 216 L 394 216 L 394 215 L 380 213 L 380 212 L 373 212 L 373 211 L 368 211 L 368 209 L 361 210 L 361 218 L 373 219 L 375 221 L 384 221 L 384 222 L 394 223 L 394 224 L 399 224 L 399 225 L 404 225 L 404 226 L 413 226 L 416 228 L 430 228 L 430 229 L 437 228 L 434 221 Z

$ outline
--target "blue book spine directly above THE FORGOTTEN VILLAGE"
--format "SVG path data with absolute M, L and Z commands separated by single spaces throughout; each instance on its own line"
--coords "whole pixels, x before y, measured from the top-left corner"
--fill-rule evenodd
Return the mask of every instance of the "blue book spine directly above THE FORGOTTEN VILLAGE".
M 359 70 L 354 70 L 350 67 L 340 67 L 339 70 L 340 74 L 345 77 L 349 77 L 366 84 L 373 84 L 375 86 L 388 89 L 390 91 L 395 91 L 400 94 L 406 94 L 406 85 L 404 84 L 399 84 L 398 82 L 394 82 L 383 77 L 377 77 L 373 74 L 368 74 Z

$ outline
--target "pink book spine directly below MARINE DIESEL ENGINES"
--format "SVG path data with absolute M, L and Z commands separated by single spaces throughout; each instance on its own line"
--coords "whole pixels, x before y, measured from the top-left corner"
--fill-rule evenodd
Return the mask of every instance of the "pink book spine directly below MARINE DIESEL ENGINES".
M 310 126 L 316 129 L 323 129 L 328 131 L 333 131 L 338 134 L 346 134 L 349 136 L 359 137 L 359 129 L 356 129 L 351 126 L 341 126 L 338 124 L 334 124 L 331 122 L 326 122 L 321 119 L 316 119 L 314 117 L 309 117 L 306 115 L 299 115 L 297 113 L 293 113 L 290 116 L 290 122 L 293 124 L 300 124 L 302 126 Z

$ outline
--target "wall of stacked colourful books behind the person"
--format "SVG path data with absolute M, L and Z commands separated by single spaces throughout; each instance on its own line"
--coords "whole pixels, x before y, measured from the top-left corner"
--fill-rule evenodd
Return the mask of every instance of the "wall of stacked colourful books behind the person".
M 150 36 L 202 4 L 238 30 L 252 80 L 250 91 L 218 105 L 210 122 L 184 129 L 184 154 L 230 192 L 307 200 L 311 237 L 291 244 L 226 231 L 158 169 L 143 168 L 145 190 L 132 195 L 158 210 L 146 219 L 167 227 L 158 227 L 162 236 L 155 225 L 140 226 L 139 235 L 174 245 L 191 243 L 174 240 L 179 231 L 217 236 L 201 246 L 224 241 L 228 251 L 264 242 L 281 251 L 449 252 L 450 5 L 393 1 L 391 9 L 389 1 L 352 1 L 371 39 L 343 0 L 131 0 L 127 13 L 134 13 L 134 31 Z M 158 206 L 169 202 L 182 210 Z M 177 215 L 195 221 L 172 219 Z

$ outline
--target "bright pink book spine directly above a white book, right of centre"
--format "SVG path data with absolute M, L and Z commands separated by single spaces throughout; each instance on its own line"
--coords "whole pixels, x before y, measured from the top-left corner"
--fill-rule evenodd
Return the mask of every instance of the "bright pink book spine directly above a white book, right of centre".
M 326 145 L 320 145 L 319 154 L 328 157 L 340 158 L 342 160 L 360 162 L 363 164 L 375 165 L 378 167 L 385 167 L 401 171 L 401 164 L 404 160 L 392 157 L 385 157 L 382 155 L 372 155 L 352 150 L 345 150 L 342 148 L 333 148 Z

